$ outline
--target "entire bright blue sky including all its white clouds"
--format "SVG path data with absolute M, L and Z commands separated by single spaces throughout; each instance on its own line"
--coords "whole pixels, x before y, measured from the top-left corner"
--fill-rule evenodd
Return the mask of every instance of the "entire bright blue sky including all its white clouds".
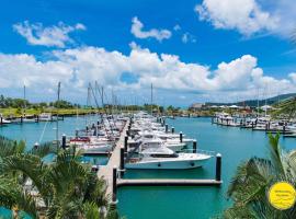
M 0 93 L 189 105 L 295 92 L 293 0 L 1 1 Z M 295 22 L 295 24 L 294 24 Z M 295 28 L 295 30 L 294 30 Z M 132 97 L 133 96 L 133 97 Z

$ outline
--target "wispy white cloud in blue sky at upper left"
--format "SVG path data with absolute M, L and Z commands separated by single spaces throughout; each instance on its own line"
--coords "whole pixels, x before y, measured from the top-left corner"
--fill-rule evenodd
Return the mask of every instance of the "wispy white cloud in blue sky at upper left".
M 68 43 L 73 43 L 69 34 L 75 31 L 84 31 L 86 26 L 77 23 L 75 26 L 59 22 L 57 25 L 44 27 L 42 23 L 31 24 L 29 21 L 13 25 L 14 31 L 26 38 L 31 45 L 65 47 Z

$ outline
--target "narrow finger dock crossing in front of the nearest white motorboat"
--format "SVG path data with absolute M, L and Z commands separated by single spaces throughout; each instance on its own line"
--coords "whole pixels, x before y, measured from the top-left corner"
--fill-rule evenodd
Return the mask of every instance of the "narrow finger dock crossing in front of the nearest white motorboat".
M 117 180 L 117 186 L 219 186 L 223 181 L 192 178 Z

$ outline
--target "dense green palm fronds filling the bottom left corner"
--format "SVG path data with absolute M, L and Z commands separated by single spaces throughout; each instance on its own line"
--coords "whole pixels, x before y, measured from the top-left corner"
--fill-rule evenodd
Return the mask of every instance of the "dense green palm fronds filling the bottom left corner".
M 23 141 L 0 138 L 0 205 L 15 218 L 20 210 L 32 218 L 116 218 L 105 182 L 80 163 L 80 152 L 60 150 L 53 162 L 44 162 L 55 151 L 45 143 L 25 152 Z

